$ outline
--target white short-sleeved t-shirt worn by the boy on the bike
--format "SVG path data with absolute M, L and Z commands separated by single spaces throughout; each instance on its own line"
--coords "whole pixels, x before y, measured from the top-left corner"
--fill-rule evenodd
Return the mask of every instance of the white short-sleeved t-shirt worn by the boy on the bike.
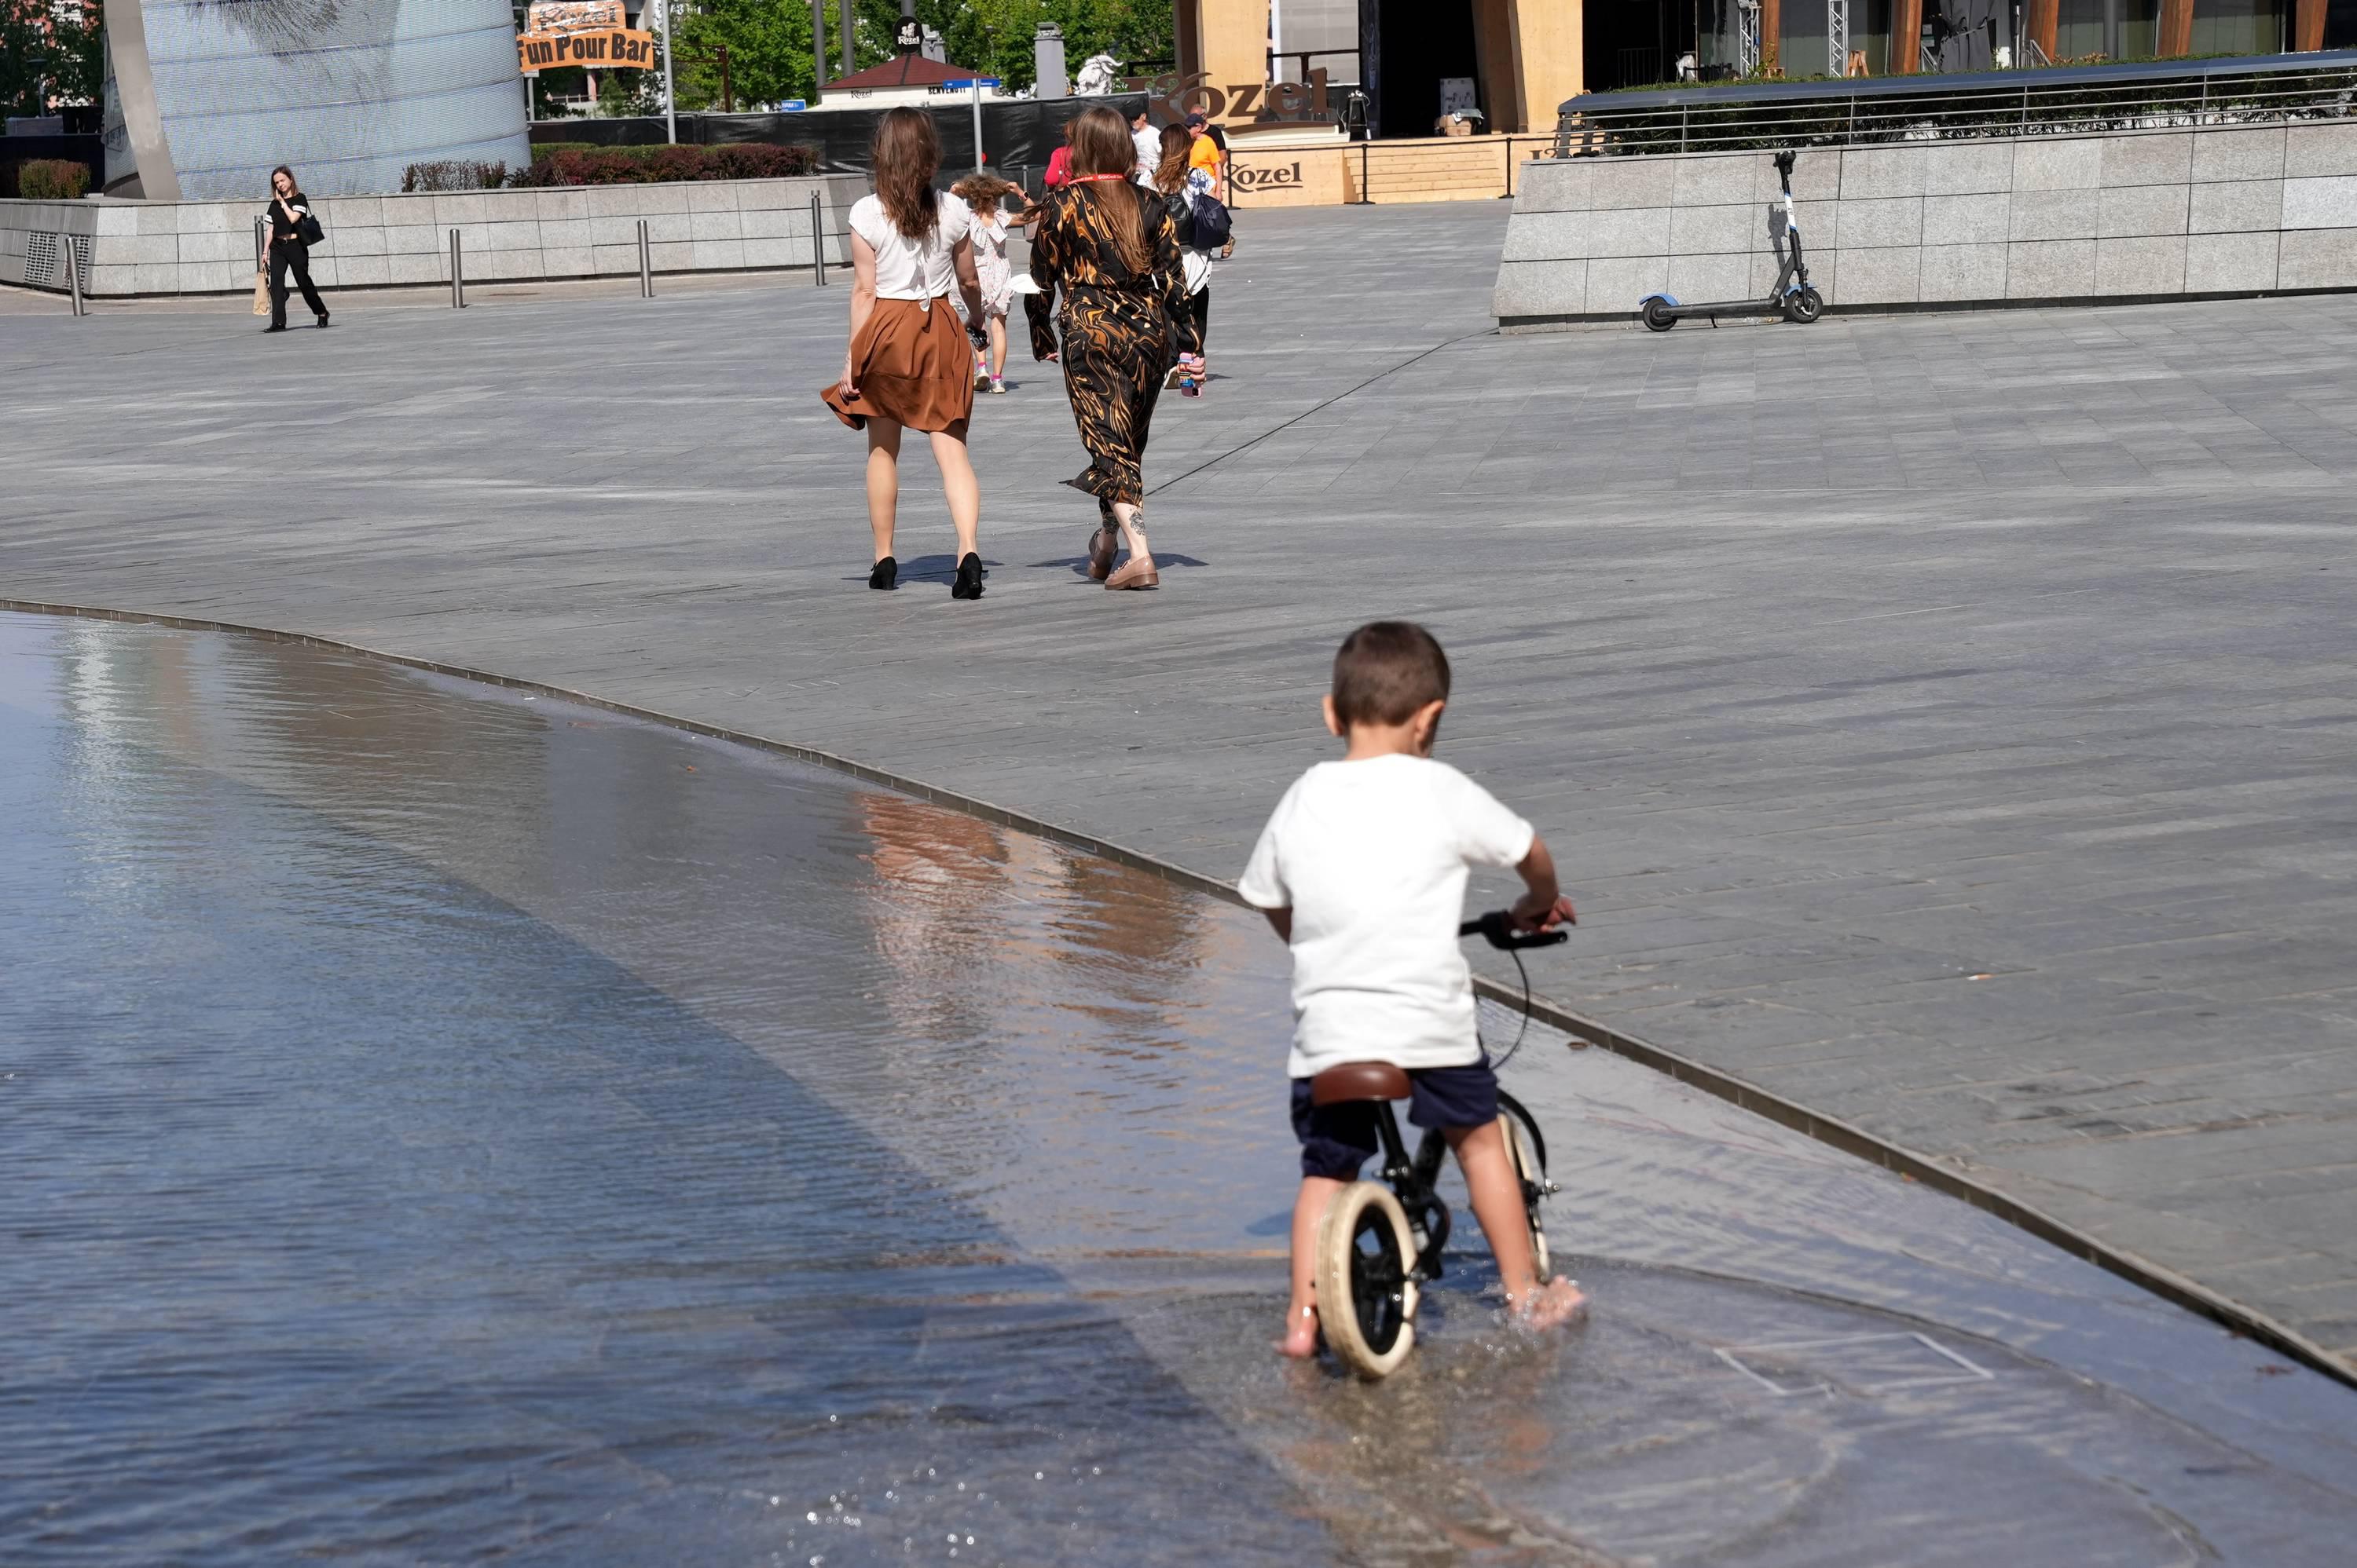
M 1457 942 L 1471 866 L 1516 866 L 1527 822 L 1447 763 L 1318 763 L 1261 829 L 1240 890 L 1294 911 L 1294 1050 L 1308 1078 L 1339 1062 L 1466 1067 L 1473 975 Z

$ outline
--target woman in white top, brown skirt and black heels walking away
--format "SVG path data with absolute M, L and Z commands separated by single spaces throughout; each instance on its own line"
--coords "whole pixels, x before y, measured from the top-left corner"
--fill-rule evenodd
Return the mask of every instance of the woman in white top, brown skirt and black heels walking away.
M 823 391 L 834 417 L 867 431 L 867 527 L 877 563 L 870 589 L 891 589 L 900 563 L 891 553 L 893 511 L 900 501 L 900 431 L 933 438 L 940 492 L 957 525 L 957 579 L 950 598 L 983 596 L 976 530 L 983 487 L 966 457 L 973 417 L 973 348 L 966 325 L 950 308 L 955 278 L 966 320 L 983 320 L 973 271 L 966 205 L 933 191 L 940 139 L 933 118 L 896 108 L 877 125 L 874 195 L 851 207 L 851 346 L 844 379 Z

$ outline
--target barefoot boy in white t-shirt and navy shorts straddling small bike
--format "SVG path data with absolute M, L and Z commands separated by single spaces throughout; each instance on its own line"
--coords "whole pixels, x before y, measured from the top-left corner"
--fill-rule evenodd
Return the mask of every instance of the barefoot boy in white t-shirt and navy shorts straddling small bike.
M 1556 862 L 1527 822 L 1447 763 L 1433 760 L 1450 662 L 1424 626 L 1372 622 L 1334 655 L 1327 730 L 1346 744 L 1285 791 L 1244 866 L 1244 902 L 1294 951 L 1294 1295 L 1287 1356 L 1318 1349 L 1313 1257 L 1318 1222 L 1376 1151 L 1374 1109 L 1310 1104 L 1310 1078 L 1341 1062 L 1391 1062 L 1414 1085 L 1407 1121 L 1440 1128 L 1466 1172 L 1518 1321 L 1549 1328 L 1584 1302 L 1567 1278 L 1539 1281 L 1497 1118 L 1497 1074 L 1473 1034 L 1473 975 L 1457 946 L 1471 866 L 1513 866 L 1513 921 L 1551 930 L 1572 918 Z

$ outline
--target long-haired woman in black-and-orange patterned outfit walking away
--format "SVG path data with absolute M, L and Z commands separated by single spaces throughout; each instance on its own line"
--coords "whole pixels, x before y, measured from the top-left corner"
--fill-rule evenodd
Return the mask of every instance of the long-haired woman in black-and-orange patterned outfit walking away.
M 1146 436 L 1171 348 L 1200 367 L 1202 341 L 1162 198 L 1129 179 L 1129 122 L 1098 104 L 1072 120 L 1070 139 L 1072 181 L 1039 205 L 1030 268 L 1042 290 L 1063 287 L 1063 386 L 1089 447 L 1089 466 L 1065 485 L 1096 497 L 1089 577 L 1153 589 L 1162 574 L 1146 542 Z M 1117 544 L 1129 546 L 1120 570 Z

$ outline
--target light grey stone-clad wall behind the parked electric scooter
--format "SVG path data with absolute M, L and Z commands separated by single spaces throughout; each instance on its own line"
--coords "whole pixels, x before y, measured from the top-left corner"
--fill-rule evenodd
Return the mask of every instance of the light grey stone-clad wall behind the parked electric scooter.
M 2357 120 L 1803 148 L 1791 188 L 1834 308 L 2357 290 Z M 1523 165 L 1499 325 L 1761 297 L 1775 195 L 1768 153 Z

